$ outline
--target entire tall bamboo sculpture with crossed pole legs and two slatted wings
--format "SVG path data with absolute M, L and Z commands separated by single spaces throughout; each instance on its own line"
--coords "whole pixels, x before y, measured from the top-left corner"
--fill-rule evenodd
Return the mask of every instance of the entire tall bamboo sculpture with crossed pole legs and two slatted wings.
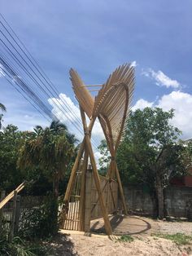
M 85 86 L 81 77 L 79 77 L 75 70 L 71 69 L 70 75 L 72 88 L 80 105 L 85 136 L 77 154 L 75 164 L 72 168 L 68 188 L 64 197 L 64 204 L 69 204 L 72 188 L 76 179 L 76 171 L 80 166 L 81 157 L 83 157 L 84 160 L 81 163 L 81 200 L 78 214 L 80 216 L 80 229 L 85 230 L 85 173 L 88 169 L 89 159 L 93 170 L 95 187 L 98 191 L 98 201 L 101 206 L 105 229 L 107 234 L 111 235 L 111 224 L 108 218 L 107 206 L 103 200 L 103 191 L 100 186 L 100 179 L 90 137 L 94 121 L 98 118 L 107 140 L 107 146 L 111 153 L 111 162 L 107 170 L 107 178 L 117 180 L 124 214 L 127 214 L 120 174 L 116 165 L 116 151 L 120 144 L 120 139 L 122 138 L 122 135 L 124 135 L 124 123 L 129 116 L 129 106 L 133 96 L 134 87 L 134 69 L 130 64 L 124 64 L 119 68 L 116 68 L 116 70 L 111 73 L 110 77 L 108 77 L 107 82 L 103 85 L 99 85 L 101 86 L 101 89 L 98 90 L 98 95 L 95 99 L 87 89 L 89 86 Z M 85 114 L 89 117 L 89 125 L 87 124 Z

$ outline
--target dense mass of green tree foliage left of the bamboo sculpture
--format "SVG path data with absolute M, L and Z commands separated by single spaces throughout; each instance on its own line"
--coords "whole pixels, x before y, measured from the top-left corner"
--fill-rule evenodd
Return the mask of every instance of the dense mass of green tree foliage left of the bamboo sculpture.
M 17 162 L 19 163 L 18 158 L 20 157 L 20 152 L 24 150 L 24 145 L 26 146 L 26 149 L 29 150 L 28 147 L 30 144 L 32 145 L 34 141 L 37 141 L 37 138 L 38 143 L 44 143 L 44 148 L 40 148 L 40 144 L 39 147 L 36 148 L 42 155 L 38 158 L 35 156 L 35 153 L 33 154 L 33 157 L 36 157 L 37 162 L 35 162 L 35 158 L 33 158 L 30 160 L 34 160 L 33 165 L 31 163 L 31 166 L 29 165 L 29 159 L 28 162 L 26 161 L 25 163 L 22 163 L 23 166 L 17 165 Z M 77 142 L 75 136 L 71 135 L 66 126 L 60 124 L 58 121 L 53 121 L 50 124 L 50 127 L 47 127 L 46 129 L 43 129 L 41 126 L 36 126 L 33 131 L 20 131 L 18 130 L 18 127 L 12 125 L 3 128 L 0 131 L 0 189 L 6 190 L 6 192 L 11 192 L 20 183 L 27 180 L 28 183 L 23 193 L 30 195 L 46 195 L 47 192 L 52 190 L 55 168 L 51 170 L 45 168 L 46 166 L 42 168 L 42 157 L 44 157 L 44 160 L 47 160 L 46 164 L 48 166 L 50 166 L 52 162 L 55 167 L 57 166 L 57 168 L 59 168 L 59 175 L 61 175 L 59 176 L 59 179 L 63 179 L 64 175 L 64 179 L 59 181 L 62 185 L 60 188 L 63 193 L 68 183 L 72 163 L 75 161 L 75 142 Z M 46 145 L 46 143 L 48 144 Z M 53 154 L 55 143 L 57 144 L 57 150 Z M 60 163 L 59 166 L 56 157 L 59 157 L 58 160 L 63 157 L 62 147 L 65 147 L 66 145 L 68 148 L 63 149 L 65 158 L 64 160 L 62 159 L 62 163 Z M 46 148 L 50 148 L 50 152 L 47 152 L 47 155 Z M 65 152 L 65 150 L 68 151 L 68 149 L 69 152 Z M 35 148 L 33 148 L 33 151 L 35 151 Z M 59 153 L 61 154 L 60 156 Z M 51 155 L 51 157 L 49 157 L 50 154 L 53 156 Z M 30 157 L 29 152 L 28 157 Z M 66 161 L 67 158 L 69 161 L 68 164 Z M 24 160 L 25 159 L 23 158 L 23 161 Z M 62 166 L 63 161 L 66 161 L 66 165 L 64 166 Z

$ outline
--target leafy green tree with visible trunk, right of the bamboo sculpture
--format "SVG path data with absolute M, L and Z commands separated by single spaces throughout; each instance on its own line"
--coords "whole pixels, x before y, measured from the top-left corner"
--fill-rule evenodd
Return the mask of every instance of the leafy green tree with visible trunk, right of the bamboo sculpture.
M 164 188 L 174 175 L 184 174 L 187 168 L 185 147 L 176 143 L 181 131 L 170 123 L 173 116 L 173 109 L 131 112 L 117 152 L 122 182 L 146 185 L 159 218 L 164 217 Z

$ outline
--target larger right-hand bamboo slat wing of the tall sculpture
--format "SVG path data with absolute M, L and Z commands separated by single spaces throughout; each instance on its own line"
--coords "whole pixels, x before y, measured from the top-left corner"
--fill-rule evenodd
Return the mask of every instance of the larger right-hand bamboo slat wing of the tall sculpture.
M 134 70 L 124 64 L 111 73 L 95 99 L 94 115 L 100 117 L 107 141 L 117 148 L 124 134 L 134 88 Z

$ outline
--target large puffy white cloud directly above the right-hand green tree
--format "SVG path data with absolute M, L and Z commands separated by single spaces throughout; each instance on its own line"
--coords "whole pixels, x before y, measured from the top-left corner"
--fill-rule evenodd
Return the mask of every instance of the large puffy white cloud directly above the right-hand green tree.
M 168 95 L 163 95 L 156 104 L 139 99 L 132 109 L 145 107 L 163 108 L 164 111 L 174 108 L 175 116 L 172 118 L 172 125 L 183 132 L 182 139 L 192 138 L 192 95 L 180 90 L 172 91 Z

